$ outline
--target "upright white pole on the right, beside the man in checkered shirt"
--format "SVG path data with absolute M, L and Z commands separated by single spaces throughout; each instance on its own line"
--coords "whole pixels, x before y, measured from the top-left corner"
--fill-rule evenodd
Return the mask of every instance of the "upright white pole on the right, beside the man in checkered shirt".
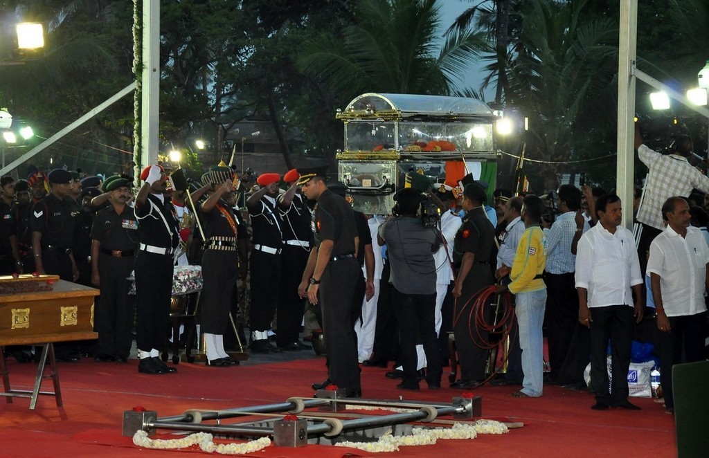
M 635 175 L 635 67 L 637 55 L 637 0 L 620 2 L 618 43 L 618 162 L 615 189 L 623 201 L 623 222 L 632 229 L 633 179 Z

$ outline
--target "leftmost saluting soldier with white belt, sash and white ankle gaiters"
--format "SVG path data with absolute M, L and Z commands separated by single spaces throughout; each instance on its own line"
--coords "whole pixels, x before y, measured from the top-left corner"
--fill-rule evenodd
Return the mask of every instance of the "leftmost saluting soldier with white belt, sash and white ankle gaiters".
M 145 167 L 145 181 L 135 196 L 138 219 L 138 254 L 135 257 L 135 296 L 138 309 L 138 372 L 177 372 L 160 359 L 167 343 L 170 298 L 172 296 L 172 254 L 179 233 L 172 204 L 164 196 L 167 175 L 159 165 Z

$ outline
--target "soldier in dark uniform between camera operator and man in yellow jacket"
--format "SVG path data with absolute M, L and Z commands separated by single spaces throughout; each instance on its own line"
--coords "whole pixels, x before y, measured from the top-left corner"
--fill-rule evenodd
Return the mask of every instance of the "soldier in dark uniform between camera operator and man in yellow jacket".
M 474 326 L 474 320 L 469 319 L 473 306 L 470 299 L 495 281 L 489 265 L 495 228 L 485 214 L 485 201 L 485 190 L 479 184 L 465 186 L 461 206 L 467 214 L 455 235 L 453 252 L 453 262 L 458 268 L 453 288 L 453 296 L 457 298 L 453 313 L 453 333 L 461 378 L 451 384 L 452 388 L 474 388 L 485 378 L 488 350 L 476 345 L 471 334 L 487 340 L 488 333 L 483 330 L 471 330 L 470 326 Z M 485 314 L 487 313 L 488 311 Z

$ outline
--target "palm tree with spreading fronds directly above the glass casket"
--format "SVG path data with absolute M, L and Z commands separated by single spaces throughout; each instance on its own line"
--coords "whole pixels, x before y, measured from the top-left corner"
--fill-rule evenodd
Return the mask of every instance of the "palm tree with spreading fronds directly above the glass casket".
M 303 48 L 299 66 L 340 101 L 364 92 L 450 94 L 453 79 L 486 50 L 482 33 L 450 33 L 436 54 L 441 2 L 362 0 L 354 26 Z

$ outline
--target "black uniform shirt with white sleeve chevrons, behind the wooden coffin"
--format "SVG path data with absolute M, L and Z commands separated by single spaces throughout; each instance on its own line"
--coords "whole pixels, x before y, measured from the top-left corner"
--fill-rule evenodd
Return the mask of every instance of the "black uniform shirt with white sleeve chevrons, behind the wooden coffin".
M 42 246 L 59 249 L 74 245 L 74 218 L 79 214 L 77 203 L 69 196 L 60 200 L 54 194 L 35 203 L 30 215 L 32 232 L 42 233 Z

